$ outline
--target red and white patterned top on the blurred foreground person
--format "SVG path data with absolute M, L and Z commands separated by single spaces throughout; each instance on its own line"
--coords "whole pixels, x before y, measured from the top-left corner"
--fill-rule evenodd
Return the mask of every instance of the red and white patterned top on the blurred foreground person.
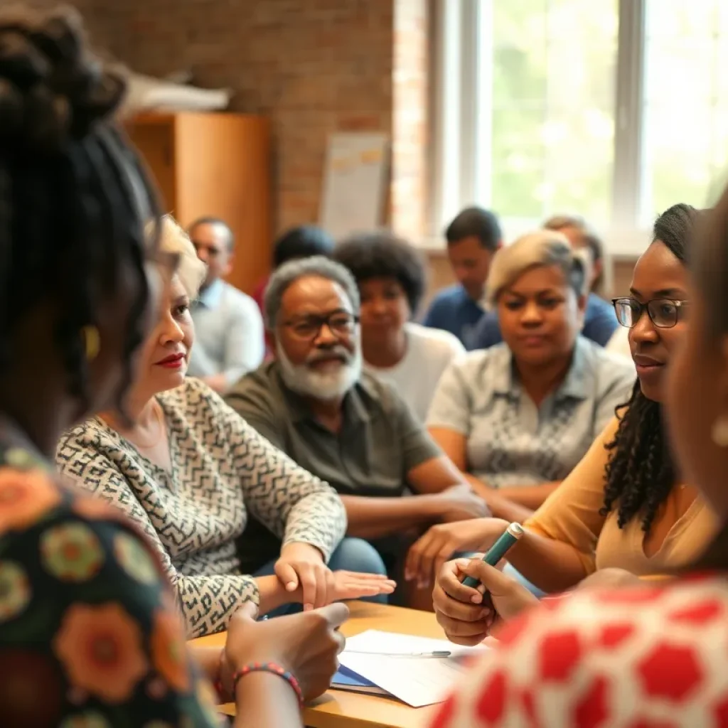
M 728 582 L 574 593 L 503 630 L 430 728 L 728 728 Z

